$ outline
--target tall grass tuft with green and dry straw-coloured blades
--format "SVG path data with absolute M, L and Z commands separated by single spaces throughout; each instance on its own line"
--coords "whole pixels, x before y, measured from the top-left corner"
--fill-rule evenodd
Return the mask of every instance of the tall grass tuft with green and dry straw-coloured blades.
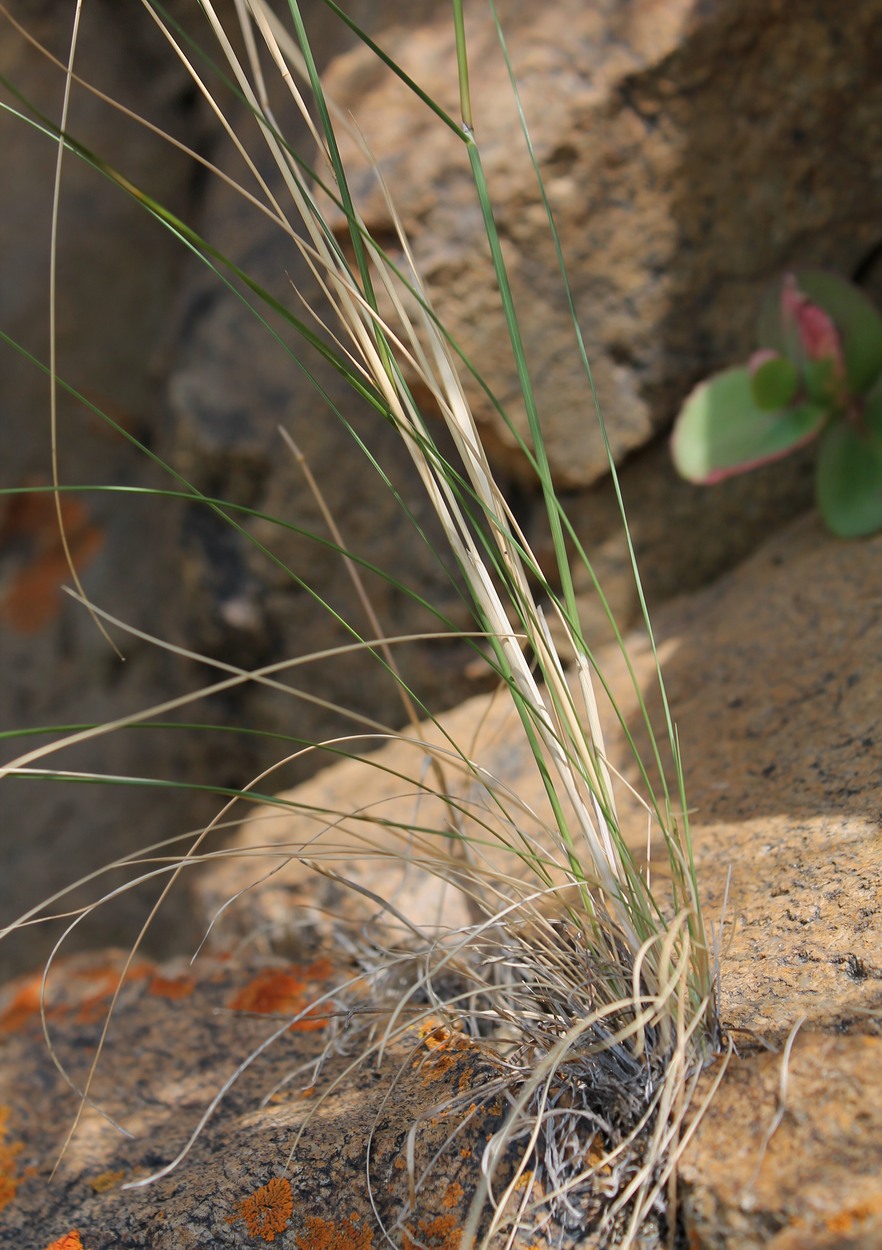
M 201 50 L 187 45 L 160 5 L 149 0 L 145 2 L 167 39 L 171 52 L 186 66 L 217 124 L 245 161 L 250 182 L 234 185 L 279 225 L 315 274 L 325 292 L 326 305 L 309 312 L 325 322 L 327 336 L 316 334 L 309 320 L 297 316 L 294 300 L 294 308 L 280 304 L 231 259 L 152 200 L 149 189 L 132 186 L 79 144 L 66 132 L 64 115 L 60 125 L 45 118 L 29 118 L 25 102 L 20 114 L 22 120 L 30 120 L 55 138 L 60 151 L 75 154 L 116 181 L 222 281 L 227 281 L 240 299 L 250 302 L 259 319 L 264 320 L 270 311 L 281 316 L 344 375 L 352 392 L 371 405 L 377 420 L 391 424 L 397 431 L 456 558 L 475 619 L 471 636 L 476 645 L 486 649 L 480 654 L 486 654 L 486 662 L 516 708 L 548 800 L 550 818 L 537 821 L 536 814 L 520 802 L 507 785 L 497 780 L 480 759 L 471 756 L 467 744 L 445 739 L 442 730 L 440 735 L 432 734 L 420 722 L 417 711 L 425 715 L 425 709 L 405 686 L 394 658 L 394 646 L 405 645 L 407 639 L 384 636 L 365 598 L 370 635 L 362 636 L 356 625 L 347 621 L 346 628 L 352 635 L 350 648 L 374 654 L 390 680 L 400 685 L 410 728 L 396 732 L 369 724 L 370 735 L 360 732 L 347 740 L 306 745 L 301 750 L 324 749 L 335 755 L 355 756 L 367 736 L 410 742 L 417 762 L 412 771 L 401 774 L 402 780 L 414 794 L 422 796 L 421 801 L 440 802 L 442 816 L 429 821 L 420 808 L 416 819 L 405 825 L 370 809 L 322 810 L 311 814 L 317 821 L 317 834 L 287 846 L 286 854 L 364 892 L 357 874 L 352 871 L 351 845 L 344 849 L 336 841 L 337 828 L 347 820 L 352 821 L 360 830 L 366 856 L 399 859 L 415 871 L 434 874 L 452 885 L 467 901 L 472 922 L 453 931 L 432 926 L 420 930 L 412 922 L 402 921 L 394 900 L 385 900 L 389 922 L 394 929 L 397 926 L 397 949 L 392 950 L 387 939 L 371 944 L 370 932 L 352 939 L 351 945 L 360 961 L 359 979 L 370 980 L 377 996 L 384 986 L 391 986 L 392 1005 L 386 1008 L 387 1022 L 379 1039 L 372 1038 L 370 1031 L 359 1034 L 357 1025 L 352 1025 L 355 1041 L 351 1030 L 349 1044 L 356 1048 L 356 1061 L 364 1061 L 390 1039 L 407 1035 L 415 1022 L 435 1028 L 440 1018 L 443 1028 L 462 1030 L 476 1042 L 503 1056 L 508 1112 L 473 1195 L 471 1215 L 462 1231 L 463 1246 L 478 1240 L 491 1244 L 505 1221 L 512 1219 L 512 1202 L 516 1208 L 515 1222 L 532 1228 L 557 1220 L 571 1230 L 580 1230 L 591 1220 L 611 1229 L 615 1220 L 621 1220 L 622 1212 L 626 1212 L 625 1226 L 620 1225 L 616 1236 L 618 1244 L 630 1244 L 647 1214 L 663 1202 L 682 1145 L 680 1125 L 693 1088 L 692 1076 L 718 1041 L 713 960 L 692 862 L 677 736 L 658 669 L 665 716 L 661 741 L 648 722 L 635 679 L 641 715 L 651 741 L 650 761 L 637 756 L 626 726 L 625 731 L 645 786 L 642 801 L 646 819 L 652 830 L 661 834 L 667 850 L 670 888 L 665 888 L 663 895 L 653 892 L 648 871 L 626 841 L 618 821 L 617 778 L 606 756 L 595 696 L 596 684 L 605 684 L 605 678 L 580 624 L 567 542 L 572 544 L 576 558 L 588 570 L 590 556 L 561 508 L 542 441 L 527 350 L 476 138 L 480 126 L 472 122 L 461 0 L 453 4 L 461 120 L 451 118 L 376 49 L 334 0 L 326 0 L 326 4 L 374 48 L 390 72 L 397 74 L 411 88 L 420 105 L 434 111 L 439 125 L 447 128 L 462 144 L 486 231 L 490 272 L 500 292 L 503 324 L 520 382 L 520 401 L 528 421 L 530 439 L 520 441 L 545 500 L 560 590 L 542 572 L 495 480 L 463 382 L 463 379 L 473 378 L 483 386 L 480 361 L 466 359 L 445 332 L 431 294 L 420 281 L 407 238 L 395 214 L 394 195 L 384 189 L 396 222 L 396 242 L 402 258 L 399 262 L 392 260 L 389 248 L 382 248 L 371 236 L 360 216 L 339 142 L 340 130 L 347 121 L 335 112 L 322 89 L 296 0 L 290 0 L 289 5 L 290 26 L 282 25 L 265 0 L 241 0 L 236 5 L 239 26 L 235 35 L 226 29 L 210 0 L 202 0 L 201 9 L 210 34 L 226 62 L 226 81 L 210 60 L 200 61 Z M 492 12 L 507 61 L 495 9 Z M 244 51 L 240 52 L 239 48 Z M 72 62 L 71 54 L 69 84 L 72 81 Z M 269 104 L 265 90 L 269 74 L 280 76 L 294 105 L 306 119 L 317 158 L 314 152 L 305 155 L 289 146 Z M 224 100 L 230 99 L 229 94 L 225 95 L 230 90 L 232 98 L 245 101 L 256 122 L 260 139 L 284 184 L 285 200 L 267 184 L 257 158 L 227 120 Z M 513 75 L 512 90 L 517 91 Z M 553 215 L 545 198 L 526 122 L 522 125 L 568 298 Z M 207 164 L 202 158 L 195 159 Z M 312 161 L 316 161 L 317 169 L 312 168 Z M 209 165 L 209 169 L 219 174 L 214 166 Z M 220 176 L 231 181 L 227 174 Z M 377 178 L 381 179 L 380 171 Z M 346 246 L 335 235 L 331 218 L 345 221 Z M 572 350 L 583 364 L 586 391 L 591 396 L 593 388 L 586 349 L 572 301 L 570 306 Z M 55 374 L 54 366 L 50 372 Z M 432 419 L 417 402 L 415 380 L 420 384 L 420 394 L 427 394 L 431 406 L 440 414 L 453 452 L 441 450 Z M 502 404 L 495 396 L 492 401 L 515 432 Z M 345 416 L 337 415 L 345 422 Z M 600 412 L 598 420 L 602 426 Z M 294 450 L 296 454 L 296 448 Z M 365 450 L 364 446 L 361 450 Z M 371 464 L 377 472 L 384 472 L 381 465 L 372 460 Z M 256 541 L 247 528 L 247 521 L 255 516 L 252 510 L 236 501 L 206 498 L 172 466 L 165 468 L 174 479 L 174 491 L 170 492 L 201 502 L 250 541 Z M 611 471 L 615 475 L 612 460 Z M 60 489 L 56 481 L 56 490 Z M 392 484 L 390 489 L 394 489 Z M 623 510 L 622 520 L 626 524 Z M 285 522 L 280 520 L 279 524 Z M 341 558 L 350 559 L 334 519 L 330 524 L 332 546 Z M 267 554 L 275 559 L 271 551 Z M 357 579 L 357 561 L 351 564 Z M 292 579 L 296 578 L 292 570 L 287 571 Z M 319 602 L 330 611 L 321 600 Z M 97 605 L 89 605 L 89 609 L 96 619 L 127 629 Z M 446 624 L 440 621 L 440 634 Z M 615 629 L 612 619 L 611 624 Z M 648 616 L 646 626 L 652 639 Z M 627 656 L 618 631 L 616 638 Z M 187 654 L 180 648 L 155 641 L 179 654 Z M 652 649 L 655 655 L 653 642 Z M 207 692 L 259 681 L 284 694 L 296 694 L 282 680 L 289 670 L 320 659 L 330 658 L 332 661 L 334 655 L 342 650 L 346 648 L 334 649 L 330 656 L 279 661 L 256 671 L 209 660 L 206 662 L 220 669 L 222 676 L 207 688 Z M 568 672 L 565 664 L 570 665 Z M 199 694 L 204 695 L 206 690 Z M 2 772 L 40 775 L 36 768 L 39 761 L 67 745 L 100 736 L 122 724 L 140 724 L 157 718 L 171 706 L 185 706 L 192 698 L 190 694 L 181 695 L 161 708 L 135 712 L 114 725 L 87 726 L 62 735 L 50 745 L 22 752 Z M 620 715 L 615 708 L 613 715 Z M 360 719 L 364 722 L 365 718 Z M 676 775 L 672 788 L 665 780 L 665 744 Z M 366 766 L 372 766 L 370 759 Z M 265 798 L 271 789 L 272 771 L 236 791 L 216 824 L 229 819 L 230 809 L 242 800 Z M 657 772 L 660 779 L 655 785 L 651 772 Z M 65 774 L 57 766 L 51 769 L 51 775 L 61 780 L 82 779 Z M 284 801 L 295 805 L 290 800 Z M 204 858 L 204 832 L 192 840 L 185 854 L 174 854 L 171 862 L 145 868 L 140 874 L 160 880 L 167 878 L 150 919 L 184 869 L 197 865 Z M 495 859 L 497 855 L 503 856 L 501 862 Z M 139 862 L 139 858 L 127 861 L 132 871 Z M 100 900 L 92 906 L 97 905 Z M 90 910 L 85 909 L 72 922 L 77 924 Z M 21 922 L 34 919 L 29 914 Z M 132 946 L 131 958 L 145 930 L 146 925 Z M 344 990 L 339 994 L 339 998 L 342 996 Z M 281 1035 L 287 1025 L 289 1021 L 276 1035 Z M 250 1059 L 245 1059 L 237 1072 L 249 1062 Z M 224 1092 L 219 1092 L 206 1116 Z M 497 1096 L 498 1092 L 496 1080 L 487 1096 Z M 87 1095 L 89 1082 L 82 1089 L 84 1100 Z M 475 1095 L 476 1091 L 470 1090 L 470 1100 Z M 162 1172 L 176 1166 L 186 1149 Z M 296 1141 L 292 1150 L 296 1150 Z M 510 1159 L 513 1156 L 515 1161 L 507 1171 L 498 1171 L 502 1179 L 495 1184 L 496 1169 L 506 1155 Z M 595 1181 L 601 1174 L 606 1180 L 598 1196 Z

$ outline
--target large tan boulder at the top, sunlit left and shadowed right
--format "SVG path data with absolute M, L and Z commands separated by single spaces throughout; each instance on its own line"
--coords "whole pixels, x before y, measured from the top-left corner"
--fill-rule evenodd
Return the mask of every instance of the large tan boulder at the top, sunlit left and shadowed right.
M 502 15 L 532 144 L 566 258 L 616 459 L 663 430 L 691 385 L 745 358 L 762 290 L 796 261 L 846 274 L 880 242 L 882 180 L 873 0 L 616 0 Z M 560 488 L 607 472 L 506 65 L 488 12 L 470 14 L 482 151 L 545 440 Z M 458 120 L 453 30 L 436 10 L 384 50 Z M 445 325 L 526 422 L 462 141 L 367 50 L 339 58 L 329 92 L 381 161 Z M 356 159 L 355 144 L 345 152 Z M 354 180 L 394 245 L 375 178 Z M 475 402 L 512 466 L 511 432 Z

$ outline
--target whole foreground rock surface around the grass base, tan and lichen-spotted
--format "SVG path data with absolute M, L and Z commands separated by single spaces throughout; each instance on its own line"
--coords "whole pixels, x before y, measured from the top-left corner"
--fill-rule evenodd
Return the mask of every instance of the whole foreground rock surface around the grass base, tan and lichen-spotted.
M 720 1008 L 738 1051 L 683 1158 L 682 1212 L 693 1248 L 857 1250 L 878 1244 L 881 552 L 882 538 L 846 545 L 826 536 L 812 520 L 775 539 L 718 585 L 657 615 L 668 694 L 687 762 L 707 916 L 718 924 L 725 910 L 725 926 L 718 930 Z M 650 656 L 640 639 L 635 639 L 632 654 L 650 712 L 657 715 Z M 635 696 L 621 662 L 610 649 L 602 650 L 600 659 L 623 710 L 632 714 Z M 443 724 L 461 744 L 483 735 L 480 758 L 485 766 L 538 805 L 541 795 L 533 788 L 540 788 L 502 711 L 487 700 L 483 706 L 472 701 Z M 607 745 L 626 766 L 621 742 L 611 735 Z M 375 765 L 396 766 L 401 750 L 397 745 L 386 748 Z M 215 918 L 220 901 L 266 878 L 277 865 L 275 855 L 267 856 L 267 845 L 301 842 L 305 829 L 315 835 L 320 814 L 315 809 L 360 805 L 365 815 L 376 815 L 381 796 L 386 816 L 396 811 L 396 802 L 401 809 L 401 778 L 390 780 L 389 774 L 367 765 L 359 776 L 359 768 L 344 762 L 289 796 L 311 805 L 311 818 L 281 819 L 275 809 L 255 818 L 239 840 L 239 858 L 207 870 L 205 924 Z M 377 780 L 370 781 L 371 776 Z M 406 819 L 416 822 L 412 792 L 404 809 Z M 626 819 L 632 820 L 636 840 L 645 836 L 636 808 Z M 420 822 L 430 820 L 426 816 Z M 364 845 L 365 832 L 362 822 L 351 825 L 350 834 L 334 826 L 329 836 L 341 842 L 346 836 L 360 836 Z M 370 836 L 379 840 L 389 834 L 375 829 Z M 310 849 L 315 860 L 320 859 L 320 845 L 316 840 Z M 259 856 L 256 865 L 249 858 L 252 855 Z M 334 862 L 340 868 L 340 855 Z M 415 895 L 410 882 L 402 888 L 400 878 L 384 876 L 384 866 L 371 862 L 360 876 L 359 856 L 351 848 L 345 868 L 369 889 L 394 892 L 402 910 L 412 905 L 416 919 L 426 920 L 427 896 Z M 4 1041 L 0 1104 L 9 1106 L 4 1166 L 11 1182 L 4 1192 L 11 1201 L 0 1220 L 15 1230 L 15 1244 L 22 1250 L 46 1250 L 74 1228 L 80 1230 L 84 1246 L 101 1250 L 112 1244 L 104 1230 L 114 1221 L 129 1231 L 131 1244 L 146 1238 L 157 1246 L 259 1244 L 260 1230 L 272 1229 L 260 1221 L 271 1219 L 284 1225 L 277 1234 L 281 1244 L 299 1250 L 336 1244 L 321 1241 L 320 1234 L 344 1236 L 341 1245 L 372 1244 L 364 1168 L 357 1162 L 361 1158 L 364 1164 L 364 1155 L 356 1141 L 364 1140 L 365 1122 L 372 1124 L 381 1108 L 376 1159 L 386 1166 L 401 1151 L 414 1118 L 419 1120 L 422 1111 L 431 1116 L 437 1109 L 436 1091 L 426 1102 L 416 1095 L 409 1101 L 407 1080 L 424 1089 L 421 1076 L 417 1080 L 421 1069 L 414 1066 L 417 1051 L 390 1054 L 392 1069 L 406 1072 L 407 1080 L 402 1078 L 401 1088 L 385 1085 L 391 1090 L 387 1100 L 354 1089 L 351 1102 L 325 1104 L 329 1118 L 340 1116 L 330 1122 L 330 1140 L 346 1142 L 340 1160 L 335 1154 L 331 1174 L 322 1170 L 327 1168 L 322 1142 L 329 1141 L 321 1136 L 324 1116 L 312 1121 L 304 1139 L 306 1165 L 290 1174 L 291 1184 L 296 1178 L 297 1185 L 307 1186 L 309 1202 L 324 1202 L 321 1195 L 311 1196 L 315 1191 L 309 1185 L 315 1182 L 321 1190 L 330 1175 L 330 1215 L 324 1214 L 324 1206 L 310 1206 L 307 1218 L 296 1198 L 289 1202 L 284 1184 L 289 1172 L 280 1164 L 282 1155 L 287 1158 L 291 1125 L 300 1122 L 302 1088 L 291 1092 L 292 1081 L 281 1104 L 271 1100 L 264 1110 L 257 1109 L 261 1094 L 290 1072 L 297 1059 L 309 1062 L 316 1054 L 322 1034 L 314 1025 L 319 1025 L 316 1011 L 321 1009 L 310 1011 L 310 1004 L 341 975 L 341 965 L 335 969 L 319 952 L 327 944 L 332 946 L 335 935 L 351 935 L 352 922 L 364 926 L 376 911 L 362 895 L 342 921 L 335 922 L 321 909 L 340 909 L 339 888 L 336 894 L 322 895 L 310 882 L 315 882 L 314 872 L 290 865 L 215 918 L 212 940 L 219 948 L 232 942 L 239 951 L 232 959 L 217 962 L 216 956 L 204 954 L 196 965 L 200 972 L 136 968 L 124 990 L 119 1024 L 111 1025 L 107 1061 L 97 1078 L 101 1104 L 136 1136 L 124 1142 L 87 1112 L 61 1165 L 60 1180 L 56 1178 L 57 1190 L 46 1188 L 47 1160 L 70 1122 L 75 1100 L 59 1094 L 54 1069 L 39 1046 L 39 980 L 7 989 L 0 1010 L 11 1031 Z M 456 919 L 456 912 L 447 912 L 447 918 Z M 252 952 L 245 954 L 249 948 Z M 280 962 L 274 949 L 286 962 Z M 100 1030 L 92 1012 L 106 1006 L 112 984 L 106 961 L 86 961 L 79 972 L 76 965 L 69 968 L 57 990 L 50 978 L 50 991 L 62 995 L 54 1000 L 50 992 L 52 1038 L 80 1081 Z M 182 1002 L 194 1004 L 192 1012 L 175 1016 L 175 1011 L 184 1011 Z M 232 1016 L 229 1010 L 211 1015 L 212 1006 L 232 1008 Z M 124 1179 L 120 1172 L 125 1179 L 136 1178 L 169 1161 L 191 1131 L 206 1094 L 210 1096 L 235 1069 L 249 1046 L 266 1036 L 266 1021 L 261 1032 L 255 1018 L 240 1015 L 241 1010 L 280 1012 L 284 1026 L 291 1012 L 304 1009 L 300 1029 L 285 1032 L 249 1070 L 210 1122 L 189 1164 L 159 1189 L 95 1192 L 96 1182 L 101 1190 L 105 1181 L 119 1184 Z M 227 1034 L 227 1028 L 234 1031 Z M 187 1039 L 187 1060 L 199 1056 L 192 1066 L 179 1066 L 184 1062 L 175 1041 L 179 1035 Z M 142 1039 L 141 1049 L 137 1039 Z M 404 1046 L 425 1044 L 425 1035 L 422 1041 L 402 1039 Z M 156 1054 L 162 1061 L 156 1084 L 147 1091 L 141 1072 L 156 1071 Z M 492 1068 L 492 1061 L 472 1048 L 456 1050 L 456 1056 L 450 1070 L 460 1090 L 477 1080 L 471 1065 Z M 335 1062 L 329 1060 L 331 1068 Z M 395 1069 L 396 1062 L 404 1066 Z M 701 1090 L 710 1090 L 721 1068 L 718 1062 L 705 1074 Z M 296 1080 L 309 1089 L 312 1078 Z M 450 1085 L 443 1089 L 451 1091 Z M 36 1090 L 45 1094 L 36 1095 Z M 350 1114 L 359 1129 L 351 1128 Z M 472 1122 L 465 1131 L 475 1129 Z M 385 1154 L 386 1131 L 390 1154 Z M 434 1141 L 429 1134 L 426 1158 Z M 316 1170 L 317 1181 L 312 1175 Z M 391 1164 L 390 1175 L 394 1171 Z M 453 1175 L 445 1165 L 437 1176 L 442 1184 L 430 1184 L 420 1218 L 451 1216 L 446 1225 L 434 1225 L 426 1238 L 427 1245 L 446 1248 L 456 1241 L 447 1242 L 443 1236 L 461 1226 L 457 1204 L 463 1195 L 456 1185 L 466 1190 L 473 1174 Z M 448 1209 L 445 1194 L 451 1200 Z M 249 1198 L 254 1199 L 251 1205 L 242 1205 Z M 387 1211 L 409 1211 L 406 1185 L 390 1190 L 389 1201 L 390 1206 L 380 1210 L 384 1220 L 395 1220 Z M 237 1225 L 226 1222 L 237 1216 Z M 120 1224 L 124 1219 L 129 1222 Z M 166 1228 L 180 1229 L 190 1240 L 164 1241 L 164 1236 L 172 1236 L 157 1231 L 164 1219 Z M 331 1221 L 331 1228 L 321 1221 Z M 37 1231 L 27 1240 L 31 1234 L 20 1232 L 22 1228 Z M 92 1228 L 96 1232 L 90 1242 Z M 210 1238 L 217 1240 L 211 1242 Z M 264 1240 L 269 1240 L 266 1231 Z M 650 1239 L 650 1244 L 655 1242 Z

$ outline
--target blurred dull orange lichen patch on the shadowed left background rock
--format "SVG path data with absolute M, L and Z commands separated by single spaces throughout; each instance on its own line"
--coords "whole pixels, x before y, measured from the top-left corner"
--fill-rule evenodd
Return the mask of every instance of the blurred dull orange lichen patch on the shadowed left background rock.
M 71 559 L 82 570 L 101 549 L 104 534 L 80 500 L 62 496 L 60 510 Z M 60 589 L 70 578 L 50 492 L 9 498 L 0 514 L 2 549 L 10 552 L 14 571 L 0 595 L 0 621 L 21 634 L 36 632 L 57 615 Z

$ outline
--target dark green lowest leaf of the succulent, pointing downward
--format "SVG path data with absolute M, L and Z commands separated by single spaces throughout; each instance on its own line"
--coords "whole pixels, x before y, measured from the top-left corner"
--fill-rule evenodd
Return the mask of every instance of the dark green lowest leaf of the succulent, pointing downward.
M 882 529 L 882 386 L 867 396 L 858 421 L 825 431 L 817 462 L 818 508 L 843 539 Z

